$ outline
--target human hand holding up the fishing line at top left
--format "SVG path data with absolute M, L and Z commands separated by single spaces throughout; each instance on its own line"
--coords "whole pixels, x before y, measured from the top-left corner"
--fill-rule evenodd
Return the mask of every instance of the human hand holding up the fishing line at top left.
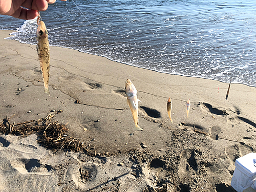
M 47 10 L 48 4 L 55 2 L 56 0 L 0 0 L 0 14 L 20 19 L 33 19 L 39 15 L 38 11 Z

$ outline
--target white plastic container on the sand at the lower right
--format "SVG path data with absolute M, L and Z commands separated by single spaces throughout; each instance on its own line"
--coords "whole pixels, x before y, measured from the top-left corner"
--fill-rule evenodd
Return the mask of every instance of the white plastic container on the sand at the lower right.
M 255 166 L 254 166 L 255 164 Z M 256 179 L 256 154 L 249 153 L 240 157 L 234 163 L 236 168 L 231 180 L 231 186 L 238 192 L 252 186 Z

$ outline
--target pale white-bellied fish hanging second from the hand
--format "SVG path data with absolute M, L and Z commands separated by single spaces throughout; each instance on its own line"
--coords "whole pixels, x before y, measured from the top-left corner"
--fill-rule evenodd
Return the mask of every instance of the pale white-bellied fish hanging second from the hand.
M 137 90 L 130 79 L 125 81 L 125 93 L 127 96 L 127 103 L 130 106 L 135 126 L 138 130 L 143 131 L 139 126 L 139 104 L 137 98 Z

